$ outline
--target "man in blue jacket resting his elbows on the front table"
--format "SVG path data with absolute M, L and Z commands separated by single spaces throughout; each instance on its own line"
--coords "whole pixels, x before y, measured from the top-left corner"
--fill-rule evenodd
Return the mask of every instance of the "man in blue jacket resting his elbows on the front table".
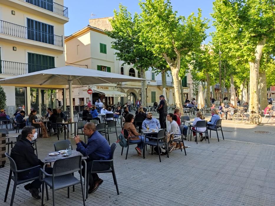
M 88 136 L 88 143 L 85 144 L 80 140 L 80 137 L 76 135 L 74 137 L 75 143 L 77 145 L 76 151 L 81 152 L 82 155 L 88 156 L 87 162 L 87 172 L 91 172 L 93 160 L 110 160 L 111 159 L 111 148 L 105 137 L 103 137 L 98 131 L 95 130 L 95 124 L 93 122 L 88 122 L 84 125 L 84 134 Z M 93 170 L 108 170 L 111 167 L 110 162 L 93 164 Z M 83 164 L 82 176 L 84 177 L 85 167 Z M 103 180 L 101 180 L 97 174 L 92 174 L 89 176 L 88 193 L 95 192 L 99 185 L 101 185 Z

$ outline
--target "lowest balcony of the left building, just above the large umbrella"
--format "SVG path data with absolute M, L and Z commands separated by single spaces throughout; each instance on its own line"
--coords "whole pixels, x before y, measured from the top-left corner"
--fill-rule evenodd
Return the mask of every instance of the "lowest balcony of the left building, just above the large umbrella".
M 10 62 L 4 60 L 0 61 L 0 74 L 21 75 L 52 68 L 54 67 L 20 62 Z

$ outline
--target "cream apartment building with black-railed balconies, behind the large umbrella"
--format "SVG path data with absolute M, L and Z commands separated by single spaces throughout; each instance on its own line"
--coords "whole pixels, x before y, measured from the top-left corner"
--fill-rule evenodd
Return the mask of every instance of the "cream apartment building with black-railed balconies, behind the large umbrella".
M 63 0 L 1 0 L 0 78 L 65 66 L 64 24 L 68 21 Z M 47 107 L 55 107 L 60 85 L 23 84 L 3 86 L 6 113 L 34 107 L 44 115 Z

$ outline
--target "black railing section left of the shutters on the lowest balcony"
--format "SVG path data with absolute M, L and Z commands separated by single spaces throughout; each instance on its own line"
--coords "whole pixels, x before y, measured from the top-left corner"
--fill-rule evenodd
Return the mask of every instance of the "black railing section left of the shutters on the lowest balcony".
M 0 61 L 0 74 L 28 74 L 28 64 Z

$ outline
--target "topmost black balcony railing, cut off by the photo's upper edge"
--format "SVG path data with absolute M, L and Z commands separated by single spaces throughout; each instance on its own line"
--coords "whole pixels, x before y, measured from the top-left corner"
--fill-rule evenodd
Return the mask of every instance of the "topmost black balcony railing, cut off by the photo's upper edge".
M 47 9 L 55 14 L 68 17 L 68 7 L 57 4 L 51 0 L 22 0 L 42 9 Z

